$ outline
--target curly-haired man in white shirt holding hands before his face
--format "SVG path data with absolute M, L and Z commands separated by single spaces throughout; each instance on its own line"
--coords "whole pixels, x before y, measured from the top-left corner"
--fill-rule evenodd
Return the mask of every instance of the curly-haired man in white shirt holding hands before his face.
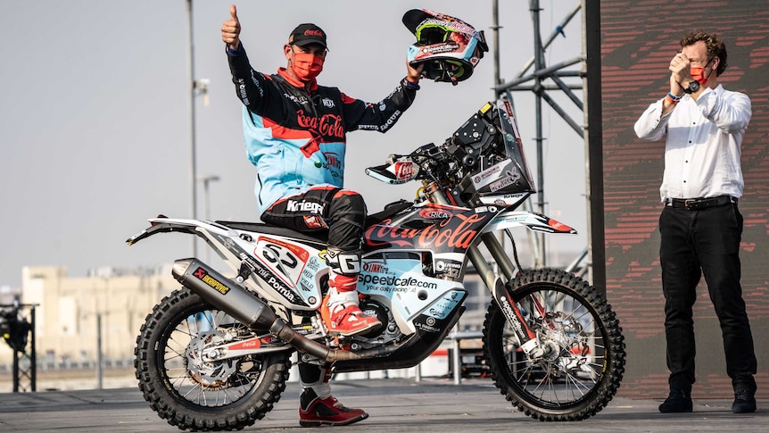
M 704 274 L 721 322 L 732 412 L 756 411 L 756 354 L 740 286 L 743 179 L 740 146 L 752 114 L 748 96 L 724 89 L 726 46 L 693 31 L 670 62 L 670 92 L 635 123 L 638 137 L 666 136 L 659 188 L 659 259 L 665 294 L 670 395 L 659 412 L 691 412 L 695 379 L 692 305 Z

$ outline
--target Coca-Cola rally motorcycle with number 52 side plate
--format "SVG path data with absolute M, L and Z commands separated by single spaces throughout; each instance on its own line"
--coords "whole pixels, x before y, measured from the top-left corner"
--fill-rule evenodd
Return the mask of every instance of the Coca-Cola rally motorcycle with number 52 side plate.
M 161 418 L 190 430 L 250 426 L 285 390 L 294 352 L 335 372 L 418 365 L 465 310 L 468 260 L 492 295 L 483 352 L 501 394 L 542 421 L 583 420 L 608 404 L 624 373 L 615 313 L 585 280 L 525 270 L 517 259 L 509 229 L 575 230 L 516 211 L 535 188 L 509 102 L 484 104 L 442 145 L 391 155 L 367 173 L 422 186 L 416 199 L 367 217 L 360 308 L 383 326 L 364 335 L 335 335 L 320 313 L 329 271 L 321 234 L 159 216 L 128 239 L 203 237 L 231 268 L 174 262 L 184 287 L 154 307 L 136 338 L 136 378 Z

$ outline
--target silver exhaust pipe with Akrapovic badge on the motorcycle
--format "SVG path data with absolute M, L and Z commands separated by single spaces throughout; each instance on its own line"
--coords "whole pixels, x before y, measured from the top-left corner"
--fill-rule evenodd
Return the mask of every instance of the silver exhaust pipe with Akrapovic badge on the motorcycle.
M 297 334 L 288 323 L 277 317 L 267 304 L 197 259 L 174 262 L 171 273 L 184 287 L 219 310 L 227 312 L 249 329 L 269 332 L 302 353 L 311 354 L 329 363 L 360 360 L 372 354 L 383 355 L 381 349 L 371 351 L 372 354 L 368 354 L 369 351 L 352 353 L 335 350 Z

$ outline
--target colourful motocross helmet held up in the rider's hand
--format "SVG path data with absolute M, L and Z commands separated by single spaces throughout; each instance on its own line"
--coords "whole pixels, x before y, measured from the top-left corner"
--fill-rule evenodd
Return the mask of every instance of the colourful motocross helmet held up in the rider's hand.
M 483 30 L 440 12 L 412 9 L 403 15 L 403 24 L 417 37 L 409 46 L 409 63 L 424 64 L 422 76 L 427 79 L 456 85 L 470 78 L 489 51 Z

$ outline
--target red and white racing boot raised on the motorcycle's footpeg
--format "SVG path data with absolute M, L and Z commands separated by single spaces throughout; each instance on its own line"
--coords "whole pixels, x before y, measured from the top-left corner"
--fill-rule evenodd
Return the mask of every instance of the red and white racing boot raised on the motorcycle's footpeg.
M 349 284 L 348 279 L 351 279 L 352 284 Z M 334 281 L 329 280 L 330 288 L 324 308 L 321 309 L 321 315 L 326 321 L 329 334 L 352 336 L 381 327 L 382 322 L 376 317 L 360 311 L 357 290 L 341 291 L 337 288 L 340 283 L 345 282 L 348 283 L 348 286 L 355 287 L 358 277 L 336 275 Z

